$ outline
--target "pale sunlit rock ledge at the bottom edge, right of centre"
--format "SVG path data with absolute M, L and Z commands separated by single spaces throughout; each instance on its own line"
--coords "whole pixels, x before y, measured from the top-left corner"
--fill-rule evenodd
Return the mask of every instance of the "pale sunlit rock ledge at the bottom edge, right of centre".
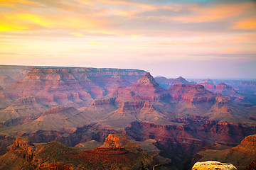
M 237 170 L 233 164 L 225 164 L 221 162 L 208 161 L 208 162 L 196 162 L 192 167 L 192 170 L 210 170 L 210 169 L 218 169 L 218 170 Z

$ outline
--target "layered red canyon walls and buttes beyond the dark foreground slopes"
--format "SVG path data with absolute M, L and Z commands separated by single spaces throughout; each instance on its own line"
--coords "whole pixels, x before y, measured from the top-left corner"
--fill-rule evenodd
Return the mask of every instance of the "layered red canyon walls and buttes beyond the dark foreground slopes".
M 75 147 L 123 134 L 138 143 L 154 141 L 159 157 L 170 160 L 163 162 L 167 168 L 191 169 L 202 157 L 198 153 L 235 147 L 256 133 L 255 81 L 154 78 L 137 69 L 1 66 L 0 71 L 1 154 L 14 151 L 10 147 L 18 137 Z

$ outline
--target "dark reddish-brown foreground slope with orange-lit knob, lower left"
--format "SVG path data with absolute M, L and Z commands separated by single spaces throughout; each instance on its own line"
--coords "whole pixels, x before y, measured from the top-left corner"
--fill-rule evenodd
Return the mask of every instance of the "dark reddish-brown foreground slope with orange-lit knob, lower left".
M 102 147 L 82 151 L 60 142 L 35 146 L 28 138 L 17 137 L 10 151 L 0 156 L 0 169 L 139 169 L 141 161 L 154 163 L 154 155 L 142 152 L 124 135 L 109 135 L 106 140 Z

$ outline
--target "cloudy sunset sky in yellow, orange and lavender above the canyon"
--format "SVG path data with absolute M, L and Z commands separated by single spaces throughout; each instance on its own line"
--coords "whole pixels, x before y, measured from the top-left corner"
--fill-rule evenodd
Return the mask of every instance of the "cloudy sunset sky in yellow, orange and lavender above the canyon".
M 0 64 L 256 79 L 256 1 L 0 0 Z

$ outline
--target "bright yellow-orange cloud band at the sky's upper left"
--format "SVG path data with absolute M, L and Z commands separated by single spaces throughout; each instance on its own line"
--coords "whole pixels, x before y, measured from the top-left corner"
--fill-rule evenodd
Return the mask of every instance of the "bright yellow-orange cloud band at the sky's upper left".
M 100 28 L 105 21 L 82 16 L 48 16 L 30 13 L 12 13 L 9 16 L 0 15 L 0 23 L 0 30 L 35 30 L 38 27 L 63 30 L 93 30 Z

